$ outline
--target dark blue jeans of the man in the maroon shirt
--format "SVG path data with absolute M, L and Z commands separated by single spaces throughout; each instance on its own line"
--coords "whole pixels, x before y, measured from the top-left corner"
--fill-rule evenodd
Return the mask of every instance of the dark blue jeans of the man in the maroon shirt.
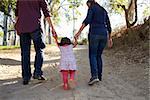
M 41 70 L 43 64 L 42 49 L 45 47 L 45 44 L 42 39 L 42 34 L 42 31 L 38 29 L 32 33 L 22 33 L 20 35 L 22 77 L 24 80 L 30 80 L 32 76 L 30 67 L 31 40 L 33 40 L 34 49 L 36 52 L 34 62 L 34 76 L 41 76 L 43 74 Z

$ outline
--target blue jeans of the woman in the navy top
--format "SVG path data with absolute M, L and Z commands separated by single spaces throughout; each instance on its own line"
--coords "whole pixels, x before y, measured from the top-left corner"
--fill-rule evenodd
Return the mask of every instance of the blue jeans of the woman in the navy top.
M 89 34 L 89 60 L 92 78 L 102 78 L 102 53 L 107 43 L 107 36 Z

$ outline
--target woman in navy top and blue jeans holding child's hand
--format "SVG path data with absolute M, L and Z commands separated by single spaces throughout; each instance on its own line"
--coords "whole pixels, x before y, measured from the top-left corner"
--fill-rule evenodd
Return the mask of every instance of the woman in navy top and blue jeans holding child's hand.
M 102 80 L 102 58 L 101 55 L 108 40 L 108 46 L 112 46 L 111 25 L 107 11 L 101 7 L 95 0 L 88 0 L 87 17 L 82 23 L 79 31 L 75 35 L 78 39 L 82 30 L 89 24 L 89 60 L 91 68 L 91 79 L 89 85 Z

